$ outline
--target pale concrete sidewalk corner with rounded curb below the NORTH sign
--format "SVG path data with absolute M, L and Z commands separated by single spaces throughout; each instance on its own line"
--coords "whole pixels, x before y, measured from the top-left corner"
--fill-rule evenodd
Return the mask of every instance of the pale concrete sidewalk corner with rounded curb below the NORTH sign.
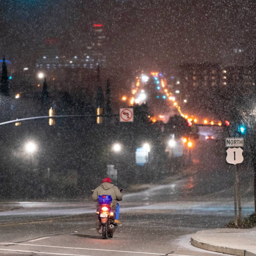
M 202 230 L 191 236 L 191 244 L 214 252 L 256 256 L 256 228 Z

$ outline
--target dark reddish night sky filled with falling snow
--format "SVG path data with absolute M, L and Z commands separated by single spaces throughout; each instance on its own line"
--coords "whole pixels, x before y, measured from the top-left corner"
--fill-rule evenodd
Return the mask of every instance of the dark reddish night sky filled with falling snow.
M 48 36 L 76 51 L 93 22 L 108 31 L 113 65 L 127 67 L 242 63 L 234 48 L 247 51 L 256 41 L 256 1 L 249 0 L 1 0 L 0 17 L 0 55 L 18 62 L 34 59 Z

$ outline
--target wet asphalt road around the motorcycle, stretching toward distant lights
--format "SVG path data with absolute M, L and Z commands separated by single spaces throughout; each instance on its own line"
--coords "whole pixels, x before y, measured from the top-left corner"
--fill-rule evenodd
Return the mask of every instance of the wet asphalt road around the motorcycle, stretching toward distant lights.
M 0 255 L 223 255 L 189 243 L 192 233 L 233 219 L 233 173 L 222 153 L 211 141 L 201 143 L 200 152 L 192 151 L 196 167 L 186 177 L 139 193 L 124 191 L 123 224 L 112 239 L 97 234 L 89 198 L 20 202 L 23 209 L 0 212 Z M 240 176 L 245 216 L 254 210 L 250 171 Z

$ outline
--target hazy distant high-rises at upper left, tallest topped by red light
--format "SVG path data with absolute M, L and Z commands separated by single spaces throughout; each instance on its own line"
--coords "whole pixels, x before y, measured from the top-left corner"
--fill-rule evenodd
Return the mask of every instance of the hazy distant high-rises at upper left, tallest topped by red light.
M 106 33 L 103 24 L 93 24 L 91 28 L 81 33 L 81 39 L 75 43 L 72 56 L 68 49 L 61 49 L 57 38 L 47 38 L 39 49 L 36 68 L 54 70 L 62 68 L 96 69 L 98 65 L 106 67 Z

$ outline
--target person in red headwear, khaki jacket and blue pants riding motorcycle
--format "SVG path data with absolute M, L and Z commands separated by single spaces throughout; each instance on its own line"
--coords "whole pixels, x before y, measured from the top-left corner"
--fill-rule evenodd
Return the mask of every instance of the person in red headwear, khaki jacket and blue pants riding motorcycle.
M 119 191 L 118 187 L 111 184 L 111 179 L 109 177 L 104 178 L 102 180 L 102 183 L 100 186 L 94 189 L 92 194 L 93 201 L 97 202 L 99 195 L 111 195 L 112 196 L 112 203 L 111 207 L 115 211 L 116 218 L 114 220 L 114 223 L 121 224 L 119 221 L 119 204 L 117 201 L 122 201 L 123 196 L 121 192 Z

